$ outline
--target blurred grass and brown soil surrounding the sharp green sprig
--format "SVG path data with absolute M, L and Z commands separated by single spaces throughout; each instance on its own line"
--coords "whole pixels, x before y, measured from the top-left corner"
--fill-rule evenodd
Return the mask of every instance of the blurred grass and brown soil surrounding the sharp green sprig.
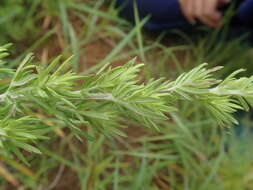
M 41 64 L 73 54 L 80 74 L 137 56 L 147 65 L 143 80 L 174 79 L 203 62 L 226 65 L 218 77 L 238 68 L 252 75 L 252 49 L 243 38 L 228 41 L 228 25 L 200 29 L 192 39 L 179 31 L 150 34 L 143 31 L 145 21 L 118 17 L 113 1 L 1 0 L 0 44 L 15 44 L 14 61 L 3 66 L 15 68 L 34 52 Z M 40 143 L 42 155 L 26 154 L 31 167 L 0 155 L 0 189 L 251 190 L 251 116 L 240 116 L 243 130 L 224 129 L 197 103 L 178 107 L 160 131 L 128 123 L 126 138 L 96 135 L 83 142 L 70 131 L 50 134 Z

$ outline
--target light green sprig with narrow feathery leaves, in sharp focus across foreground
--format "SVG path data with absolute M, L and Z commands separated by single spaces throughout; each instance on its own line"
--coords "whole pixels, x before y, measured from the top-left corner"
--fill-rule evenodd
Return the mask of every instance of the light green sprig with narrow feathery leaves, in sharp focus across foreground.
M 8 46 L 0 48 L 1 59 L 8 55 Z M 221 67 L 202 64 L 175 81 L 140 83 L 143 64 L 135 60 L 90 76 L 72 72 L 71 58 L 62 64 L 60 60 L 58 56 L 45 67 L 29 54 L 16 70 L 0 69 L 0 146 L 5 154 L 15 153 L 25 161 L 20 148 L 40 153 L 32 144 L 54 127 L 38 115 L 53 119 L 55 127 L 68 127 L 78 138 L 93 139 L 87 128 L 125 136 L 119 128 L 126 118 L 158 129 L 157 123 L 176 111 L 181 100 L 198 102 L 220 125 L 236 123 L 232 114 L 253 103 L 253 77 L 235 78 L 242 70 L 222 81 L 213 77 Z

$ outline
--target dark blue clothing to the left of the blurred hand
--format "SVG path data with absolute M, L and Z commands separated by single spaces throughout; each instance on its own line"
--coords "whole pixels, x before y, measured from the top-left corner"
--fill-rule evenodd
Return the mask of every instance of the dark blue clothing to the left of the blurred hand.
M 134 0 L 117 0 L 117 6 L 122 8 L 120 14 L 134 20 Z M 136 0 L 141 18 L 151 16 L 145 25 L 150 30 L 165 30 L 191 27 L 184 18 L 178 0 Z

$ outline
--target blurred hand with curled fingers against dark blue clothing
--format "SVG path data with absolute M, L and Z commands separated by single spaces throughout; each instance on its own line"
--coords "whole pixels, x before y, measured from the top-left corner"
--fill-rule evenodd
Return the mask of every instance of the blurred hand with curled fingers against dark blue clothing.
M 190 23 L 198 19 L 209 27 L 220 26 L 222 18 L 219 7 L 227 4 L 229 0 L 179 0 L 181 9 Z

